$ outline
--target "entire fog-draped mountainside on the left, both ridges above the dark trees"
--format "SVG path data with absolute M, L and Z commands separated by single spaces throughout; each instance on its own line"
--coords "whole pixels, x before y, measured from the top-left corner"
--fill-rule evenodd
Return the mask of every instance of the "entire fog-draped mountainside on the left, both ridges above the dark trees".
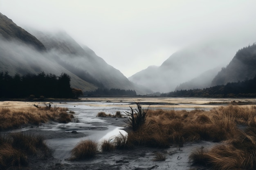
M 65 32 L 45 33 L 17 26 L 0 13 L 0 71 L 10 75 L 44 71 L 71 77 L 71 85 L 83 91 L 97 88 L 150 91 L 130 82 L 119 70 L 107 64 L 87 46 L 81 47 Z M 33 35 L 32 35 L 33 34 Z

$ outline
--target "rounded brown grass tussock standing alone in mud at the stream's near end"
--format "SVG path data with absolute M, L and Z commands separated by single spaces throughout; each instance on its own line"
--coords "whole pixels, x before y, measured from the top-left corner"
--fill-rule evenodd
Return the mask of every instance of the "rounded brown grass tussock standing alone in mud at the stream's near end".
M 97 154 L 98 144 L 92 140 L 80 141 L 72 149 L 71 159 L 90 159 Z

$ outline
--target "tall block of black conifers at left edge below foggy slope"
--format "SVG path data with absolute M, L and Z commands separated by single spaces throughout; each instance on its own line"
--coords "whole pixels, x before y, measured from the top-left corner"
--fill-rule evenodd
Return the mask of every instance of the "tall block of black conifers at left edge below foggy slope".
M 70 87 L 70 80 L 70 76 L 66 73 L 62 73 L 60 76 L 44 72 L 23 76 L 16 73 L 11 76 L 8 72 L 1 72 L 0 97 L 74 98 L 81 95 L 81 90 Z

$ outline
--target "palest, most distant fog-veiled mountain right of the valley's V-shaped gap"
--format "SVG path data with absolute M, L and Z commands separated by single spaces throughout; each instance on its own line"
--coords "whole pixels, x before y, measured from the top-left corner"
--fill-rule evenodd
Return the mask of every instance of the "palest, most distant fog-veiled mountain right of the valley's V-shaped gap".
M 209 69 L 225 66 L 230 56 L 234 56 L 232 53 L 216 42 L 196 44 L 173 53 L 161 66 L 150 66 L 128 79 L 155 92 L 174 91 L 180 84 Z M 207 84 L 209 80 L 201 83 Z

